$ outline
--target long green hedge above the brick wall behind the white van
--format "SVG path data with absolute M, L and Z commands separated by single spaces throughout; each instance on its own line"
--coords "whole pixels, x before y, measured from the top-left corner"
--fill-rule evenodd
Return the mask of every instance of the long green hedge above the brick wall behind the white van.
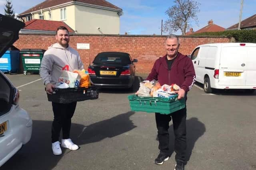
M 239 43 L 256 43 L 256 29 L 196 33 L 196 34 L 192 34 L 191 36 L 200 36 L 200 35 L 219 35 L 219 36 L 225 36 L 225 37 L 234 37 L 236 42 L 239 42 Z

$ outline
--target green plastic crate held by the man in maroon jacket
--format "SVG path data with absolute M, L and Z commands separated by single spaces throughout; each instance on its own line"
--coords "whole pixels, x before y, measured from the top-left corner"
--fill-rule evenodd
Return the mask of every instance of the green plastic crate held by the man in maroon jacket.
M 146 111 L 148 113 L 170 114 L 185 108 L 185 99 L 178 100 L 178 95 L 172 98 L 128 96 L 132 111 Z

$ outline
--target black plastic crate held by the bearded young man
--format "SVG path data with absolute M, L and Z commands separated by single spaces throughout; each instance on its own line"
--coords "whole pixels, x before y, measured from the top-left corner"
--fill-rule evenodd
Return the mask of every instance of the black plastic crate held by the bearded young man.
M 88 88 L 52 88 L 52 90 L 52 94 L 47 93 L 48 101 L 63 104 L 97 99 L 99 96 L 99 88 L 97 86 Z

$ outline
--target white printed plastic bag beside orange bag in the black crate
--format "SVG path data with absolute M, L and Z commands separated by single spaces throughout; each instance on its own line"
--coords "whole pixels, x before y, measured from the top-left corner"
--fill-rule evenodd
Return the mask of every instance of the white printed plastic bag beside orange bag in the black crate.
M 81 76 L 79 76 L 78 73 L 62 70 L 61 76 L 56 86 L 60 86 L 61 84 L 66 83 L 70 88 L 79 87 L 80 79 L 81 79 Z

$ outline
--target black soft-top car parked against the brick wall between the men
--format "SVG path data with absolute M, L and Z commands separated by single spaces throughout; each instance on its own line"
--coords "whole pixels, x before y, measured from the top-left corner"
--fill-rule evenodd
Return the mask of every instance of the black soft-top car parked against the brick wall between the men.
M 137 59 L 128 53 L 102 52 L 88 67 L 93 84 L 102 88 L 130 88 L 135 90 L 135 65 Z

